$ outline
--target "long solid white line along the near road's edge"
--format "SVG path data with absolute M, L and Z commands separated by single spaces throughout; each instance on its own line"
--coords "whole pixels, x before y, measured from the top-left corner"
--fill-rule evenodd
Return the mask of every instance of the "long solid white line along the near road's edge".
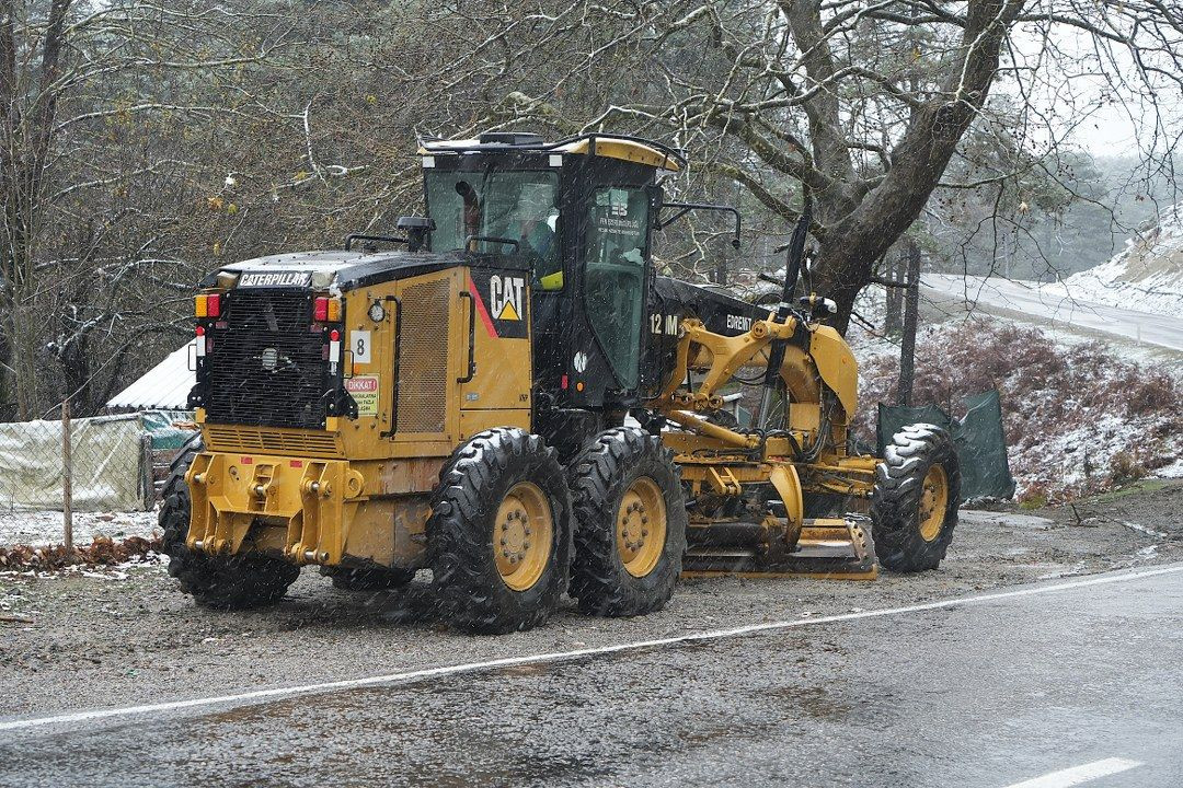
M 500 659 L 489 659 L 485 662 L 465 663 L 461 665 L 444 665 L 440 667 L 425 667 L 401 673 L 387 673 L 384 676 L 369 676 L 366 678 L 349 678 L 338 682 L 322 682 L 318 684 L 303 684 L 298 686 L 277 686 L 269 690 L 253 690 L 250 692 L 238 692 L 235 695 L 219 695 L 207 698 L 192 698 L 188 701 L 169 701 L 167 703 L 149 703 L 138 706 L 124 706 L 121 709 L 93 709 L 90 711 L 75 711 L 59 714 L 49 717 L 32 717 L 27 719 L 11 719 L 0 722 L 2 730 L 26 730 L 44 725 L 60 725 L 69 723 L 91 722 L 95 719 L 110 719 L 114 717 L 130 717 L 134 715 L 154 714 L 160 711 L 177 711 L 181 709 L 194 709 L 200 706 L 214 706 L 227 703 L 241 703 L 245 701 L 260 701 L 267 698 L 284 698 L 296 695 L 310 695 L 328 692 L 330 690 L 350 690 L 363 686 L 375 686 L 383 684 L 403 684 L 424 678 L 437 678 L 440 676 L 455 676 L 458 673 L 473 673 L 496 667 L 509 667 L 516 665 L 536 665 L 539 663 L 569 662 L 582 657 L 595 657 L 600 655 L 619 653 L 622 651 L 640 651 L 655 649 L 659 646 L 678 645 L 681 643 L 694 643 L 700 640 L 718 640 L 720 638 L 735 638 L 761 632 L 778 632 L 801 626 L 816 626 L 817 624 L 830 624 L 834 621 L 856 621 L 865 618 L 880 618 L 884 616 L 903 616 L 905 613 L 920 613 L 930 610 L 940 610 L 957 605 L 975 605 L 995 601 L 997 599 L 1014 599 L 1017 597 L 1030 597 L 1034 594 L 1046 594 L 1055 591 L 1069 588 L 1085 588 L 1088 586 L 1104 586 L 1113 582 L 1130 582 L 1142 578 L 1152 578 L 1161 574 L 1174 574 L 1183 572 L 1183 564 L 1161 567 L 1157 569 L 1144 569 L 1123 574 L 1105 574 L 1068 582 L 1058 582 L 1049 586 L 1035 586 L 1030 588 L 1019 588 L 1016 591 L 1000 591 L 977 597 L 959 597 L 956 599 L 943 599 L 940 601 L 924 603 L 920 605 L 907 605 L 905 607 L 888 607 L 884 610 L 868 610 L 858 613 L 841 613 L 838 616 L 819 616 L 817 618 L 795 619 L 791 621 L 769 621 L 767 624 L 750 624 L 737 626 L 730 630 L 710 630 L 705 632 L 691 632 L 672 638 L 659 638 L 655 640 L 636 640 L 633 643 L 620 643 L 610 646 L 596 646 L 593 649 L 576 649 L 574 651 L 554 651 L 538 655 L 524 655 L 521 657 L 503 657 Z

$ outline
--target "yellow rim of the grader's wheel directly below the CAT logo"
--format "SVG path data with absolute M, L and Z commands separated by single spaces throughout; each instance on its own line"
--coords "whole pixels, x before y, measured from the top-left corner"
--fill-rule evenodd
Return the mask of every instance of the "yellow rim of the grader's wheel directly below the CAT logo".
M 550 503 L 531 482 L 510 488 L 493 521 L 493 555 L 502 581 L 513 591 L 526 591 L 538 582 L 550 561 L 555 523 Z

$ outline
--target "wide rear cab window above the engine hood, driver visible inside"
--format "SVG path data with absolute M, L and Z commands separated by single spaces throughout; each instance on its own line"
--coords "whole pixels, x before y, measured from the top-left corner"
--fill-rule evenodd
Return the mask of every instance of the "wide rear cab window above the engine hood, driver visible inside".
M 433 252 L 464 247 L 470 235 L 512 239 L 531 260 L 534 281 L 542 289 L 563 286 L 558 247 L 558 176 L 545 171 L 432 171 L 427 180 L 427 214 L 435 221 Z M 474 250 L 513 250 L 510 243 L 473 242 Z

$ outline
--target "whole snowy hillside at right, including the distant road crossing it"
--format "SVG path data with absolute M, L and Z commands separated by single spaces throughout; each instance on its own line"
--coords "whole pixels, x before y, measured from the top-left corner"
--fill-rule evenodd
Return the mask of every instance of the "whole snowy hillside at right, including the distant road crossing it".
M 961 416 L 962 398 L 1002 396 L 1021 500 L 1071 500 L 1151 475 L 1183 476 L 1183 203 L 1110 261 L 1062 282 L 925 273 L 914 402 Z M 859 313 L 884 324 L 883 292 Z M 858 323 L 856 425 L 892 402 L 898 338 Z

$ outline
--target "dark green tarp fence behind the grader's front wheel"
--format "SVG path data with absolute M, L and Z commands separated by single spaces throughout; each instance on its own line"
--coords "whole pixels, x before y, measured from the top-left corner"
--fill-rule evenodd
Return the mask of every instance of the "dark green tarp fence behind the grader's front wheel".
M 877 439 L 879 456 L 905 424 L 925 422 L 943 426 L 957 444 L 957 460 L 962 470 L 962 500 L 996 497 L 1009 499 L 1015 494 L 1015 480 L 1007 461 L 1007 439 L 1002 431 L 1002 403 L 997 390 L 984 391 L 962 402 L 965 416 L 953 418 L 936 405 L 907 408 L 879 403 Z

